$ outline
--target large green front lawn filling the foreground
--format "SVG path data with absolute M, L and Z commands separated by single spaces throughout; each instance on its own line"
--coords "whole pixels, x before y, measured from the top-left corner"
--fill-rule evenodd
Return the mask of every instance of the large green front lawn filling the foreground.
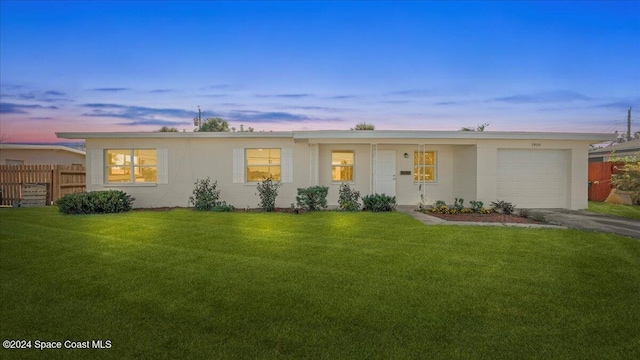
M 400 213 L 0 209 L 0 358 L 640 358 L 640 242 Z M 46 353 L 46 354 L 43 354 Z

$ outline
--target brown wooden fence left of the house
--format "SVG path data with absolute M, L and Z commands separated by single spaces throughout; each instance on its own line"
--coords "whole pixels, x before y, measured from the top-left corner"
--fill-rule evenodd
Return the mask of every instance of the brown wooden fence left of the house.
M 0 205 L 22 198 L 22 185 L 47 187 L 47 204 L 62 196 L 86 190 L 86 169 L 78 165 L 0 165 Z

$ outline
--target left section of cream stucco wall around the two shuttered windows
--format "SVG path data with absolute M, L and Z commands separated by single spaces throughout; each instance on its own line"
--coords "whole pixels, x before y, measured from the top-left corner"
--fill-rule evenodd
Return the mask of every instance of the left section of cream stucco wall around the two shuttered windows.
M 297 183 L 308 183 L 308 146 L 294 143 L 290 138 L 265 139 L 88 139 L 87 153 L 93 150 L 118 148 L 157 148 L 168 150 L 168 184 L 91 184 L 87 176 L 87 190 L 119 189 L 134 196 L 135 207 L 189 206 L 189 196 L 196 179 L 207 176 L 218 181 L 220 200 L 238 208 L 256 208 L 260 201 L 256 183 L 233 182 L 233 149 L 235 148 L 292 148 L 294 153 L 294 179 L 296 183 L 283 183 L 276 206 L 289 207 L 295 202 Z M 87 173 L 95 164 L 87 163 Z M 104 166 L 104 165 L 103 165 Z

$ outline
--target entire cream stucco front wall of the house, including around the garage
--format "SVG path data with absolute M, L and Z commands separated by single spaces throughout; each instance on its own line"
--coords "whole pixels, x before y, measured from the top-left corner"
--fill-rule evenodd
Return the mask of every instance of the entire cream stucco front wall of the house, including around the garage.
M 490 140 L 490 139 L 321 139 L 295 140 L 291 137 L 251 138 L 89 138 L 87 154 L 93 150 L 115 148 L 157 148 L 168 150 L 168 184 L 153 185 L 96 185 L 91 190 L 121 189 L 136 197 L 136 207 L 188 206 L 189 196 L 196 179 L 207 176 L 218 181 L 221 199 L 239 208 L 255 208 L 259 198 L 256 184 L 233 182 L 233 149 L 236 148 L 291 148 L 293 150 L 293 182 L 283 183 L 277 198 L 277 206 L 289 207 L 295 202 L 297 188 L 314 185 L 317 176 L 319 185 L 329 187 L 328 203 L 338 204 L 340 183 L 331 181 L 331 151 L 353 150 L 355 152 L 355 179 L 352 188 L 362 195 L 371 193 L 371 152 L 395 150 L 396 152 L 396 198 L 398 204 L 416 205 L 420 201 L 419 182 L 412 175 L 400 175 L 401 171 L 413 173 L 413 152 L 418 143 L 427 151 L 437 153 L 437 180 L 424 185 L 425 203 L 436 200 L 452 203 L 462 197 L 465 204 L 481 200 L 485 206 L 497 200 L 497 153 L 499 149 L 562 149 L 568 152 L 569 184 L 567 208 L 582 209 L 587 206 L 587 149 L 589 141 L 560 140 Z M 317 170 L 314 168 L 317 153 Z M 404 153 L 408 158 L 404 158 Z M 91 174 L 95 164 L 87 161 Z M 101 164 L 100 166 L 104 166 Z M 317 174 L 317 175 L 316 175 Z M 534 194 L 532 194 L 534 195 Z M 500 199 L 507 200 L 508 199 Z

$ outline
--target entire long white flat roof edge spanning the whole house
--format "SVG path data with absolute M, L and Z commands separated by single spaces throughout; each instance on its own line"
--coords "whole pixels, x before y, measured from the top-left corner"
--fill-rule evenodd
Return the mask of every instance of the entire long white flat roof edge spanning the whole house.
M 423 130 L 316 130 L 269 132 L 60 132 L 63 139 L 99 138 L 293 138 L 293 139 L 487 139 L 487 140 L 586 140 L 611 141 L 615 134 L 498 132 L 498 131 L 423 131 Z

